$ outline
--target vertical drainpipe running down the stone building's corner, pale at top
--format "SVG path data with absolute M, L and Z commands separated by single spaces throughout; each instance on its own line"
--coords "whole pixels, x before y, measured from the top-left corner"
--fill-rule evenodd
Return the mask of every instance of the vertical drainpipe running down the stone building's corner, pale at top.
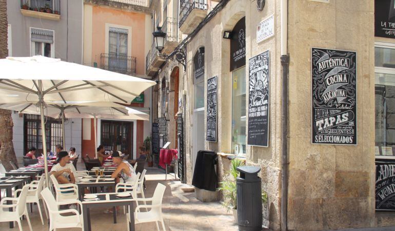
M 288 0 L 281 0 L 281 66 L 282 66 L 282 163 L 281 163 L 281 230 L 287 230 L 288 212 L 288 71 L 289 55 L 287 52 L 288 39 Z

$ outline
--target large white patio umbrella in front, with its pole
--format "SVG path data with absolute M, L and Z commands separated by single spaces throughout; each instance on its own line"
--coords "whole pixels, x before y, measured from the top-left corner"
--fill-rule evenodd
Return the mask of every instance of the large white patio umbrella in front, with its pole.
M 0 59 L 0 99 L 3 103 L 38 102 L 48 183 L 44 125 L 46 102 L 130 103 L 155 82 L 44 56 Z M 8 108 L 7 108 L 8 109 Z

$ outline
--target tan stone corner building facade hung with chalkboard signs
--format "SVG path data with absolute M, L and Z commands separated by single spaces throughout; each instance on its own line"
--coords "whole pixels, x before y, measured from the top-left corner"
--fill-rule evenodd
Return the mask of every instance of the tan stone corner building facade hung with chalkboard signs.
M 163 61 L 164 64 L 155 70 L 154 76 L 159 77 L 160 82 L 153 99 L 158 102 L 158 117 L 164 111 L 169 113 L 170 105 L 175 101 L 166 97 L 173 89 L 173 66 L 178 66 L 179 113 L 185 124 L 186 182 L 190 184 L 192 181 L 198 150 L 218 152 L 219 180 L 229 169 L 229 157 L 242 156 L 247 165 L 261 167 L 262 187 L 269 197 L 269 227 L 273 230 L 285 228 L 284 224 L 282 227 L 281 202 L 283 139 L 286 139 L 288 198 L 283 201 L 288 205 L 286 223 L 289 230 L 394 225 L 392 213 L 376 210 L 375 160 L 392 159 L 391 101 L 387 95 L 386 108 L 390 111 L 384 114 L 387 125 L 383 145 L 379 134 L 383 132 L 378 127 L 381 122 L 377 109 L 381 105 L 378 91 L 385 85 L 389 94 L 390 79 L 383 82 L 380 77 L 391 78 L 395 74 L 394 38 L 383 38 L 374 33 L 377 25 L 375 9 L 381 12 L 381 8 L 375 7 L 378 1 L 276 0 L 266 1 L 262 11 L 257 9 L 256 1 L 192 1 L 192 10 L 187 15 L 185 2 L 180 1 L 179 27 L 183 38 L 181 45 L 186 48 L 186 70 L 175 61 Z M 282 26 L 281 9 L 286 2 L 288 20 Z M 391 4 L 391 1 L 382 2 Z M 391 20 L 390 16 L 388 22 Z M 242 35 L 241 21 L 245 21 Z M 233 38 L 229 40 L 224 34 L 230 32 L 232 35 L 235 28 L 239 36 L 233 38 L 245 43 L 244 65 L 231 61 L 240 52 L 234 55 Z M 262 30 L 266 33 L 260 33 Z M 356 52 L 356 145 L 313 144 L 313 48 Z M 284 49 L 289 57 L 289 65 L 285 65 L 289 68 L 288 99 L 285 101 L 289 111 L 287 124 L 282 123 L 283 91 L 286 90 L 281 62 Z M 265 51 L 270 57 L 269 122 L 267 147 L 262 147 L 247 144 L 249 117 L 248 112 L 244 113 L 249 106 L 249 60 Z M 199 57 L 202 52 L 204 59 Z M 384 64 L 381 58 L 386 61 Z M 203 65 L 201 61 L 204 61 Z M 199 70 L 201 66 L 203 71 Z M 214 76 L 218 80 L 216 142 L 206 140 L 207 82 Z M 349 125 L 353 126 L 352 123 Z M 283 128 L 287 132 L 285 137 Z

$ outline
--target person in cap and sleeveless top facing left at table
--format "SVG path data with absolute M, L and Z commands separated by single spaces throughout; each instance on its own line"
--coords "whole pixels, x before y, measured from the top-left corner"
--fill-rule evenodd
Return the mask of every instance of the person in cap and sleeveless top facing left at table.
M 134 172 L 133 166 L 129 164 L 129 162 L 122 160 L 120 156 L 120 151 L 113 151 L 112 153 L 112 162 L 114 165 L 117 165 L 114 172 L 112 172 L 111 177 L 115 178 L 115 184 L 120 182 L 120 177 L 124 180 L 124 182 L 134 182 L 137 175 Z M 116 207 L 118 210 L 118 207 Z M 112 214 L 112 209 L 108 209 L 104 211 L 105 214 Z

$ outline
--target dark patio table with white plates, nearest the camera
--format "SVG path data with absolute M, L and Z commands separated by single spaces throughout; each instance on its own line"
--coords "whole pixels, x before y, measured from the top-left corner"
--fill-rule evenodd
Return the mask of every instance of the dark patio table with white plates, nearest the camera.
M 130 223 L 129 230 L 134 231 L 134 199 L 130 195 L 127 198 L 119 198 L 117 197 L 117 192 L 109 192 L 103 194 L 93 194 L 96 195 L 97 198 L 95 200 L 92 199 L 84 199 L 82 201 L 82 211 L 84 217 L 84 230 L 91 231 L 90 225 L 90 208 L 93 207 L 115 207 L 115 206 L 126 206 L 129 210 Z M 88 195 L 88 194 L 87 194 Z M 91 195 L 91 194 L 89 194 Z M 116 210 L 114 209 L 113 213 L 114 223 L 116 223 Z

